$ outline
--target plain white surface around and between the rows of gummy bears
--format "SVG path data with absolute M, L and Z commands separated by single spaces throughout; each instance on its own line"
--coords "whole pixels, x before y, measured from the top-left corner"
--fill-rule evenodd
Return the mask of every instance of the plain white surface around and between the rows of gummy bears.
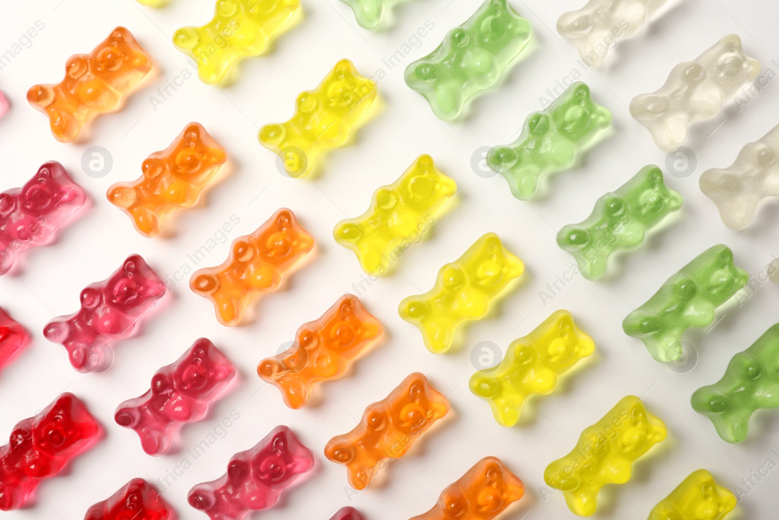
M 695 469 L 710 469 L 721 484 L 734 489 L 768 458 L 777 461 L 771 450 L 779 448 L 779 413 L 756 414 L 749 439 L 730 445 L 689 405 L 696 388 L 718 380 L 731 356 L 777 321 L 774 285 L 763 285 L 751 297 L 742 295 L 721 309 L 716 319 L 722 319 L 713 330 L 686 332 L 685 340 L 700 354 L 688 373 L 654 362 L 643 344 L 627 337 L 621 327 L 632 308 L 716 243 L 731 246 L 736 263 L 753 275 L 764 271 L 777 253 L 779 206 L 767 203 L 752 228 L 730 232 L 697 184 L 700 172 L 728 166 L 745 143 L 777 124 L 775 82 L 748 104 L 728 103 L 716 119 L 693 126 L 686 144 L 696 152 L 697 171 L 685 179 L 667 175 L 668 184 L 685 200 L 677 218 L 652 234 L 642 249 L 620 256 L 618 268 L 606 281 L 576 277 L 546 305 L 539 292 L 573 265 L 573 258 L 555 245 L 556 230 L 586 218 L 598 196 L 622 185 L 644 165 L 664 167 L 665 154 L 629 115 L 626 105 L 632 97 L 656 90 L 675 64 L 696 58 L 729 33 L 742 37 L 746 52 L 759 59 L 763 69 L 775 70 L 771 60 L 779 57 L 775 27 L 779 7 L 771 0 L 672 1 L 650 20 L 647 30 L 612 51 L 612 65 L 584 73 L 595 100 L 613 111 L 615 132 L 587 154 L 582 167 L 555 175 L 548 198 L 529 204 L 515 200 L 501 177 L 476 175 L 472 154 L 478 147 L 512 141 L 526 116 L 541 108 L 539 97 L 556 80 L 581 68 L 573 44 L 553 28 L 562 12 L 578 9 L 583 1 L 513 0 L 533 24 L 537 48 L 510 71 L 498 90 L 474 102 L 470 119 L 449 126 L 406 87 L 403 69 L 432 51 L 446 31 L 471 16 L 480 3 L 407 2 L 396 9 L 397 23 L 390 31 L 373 34 L 361 30 L 351 9 L 337 0 L 303 0 L 302 22 L 283 34 L 270 54 L 241 63 L 238 83 L 217 88 L 192 77 L 155 110 L 151 97 L 157 96 L 157 88 L 181 75 L 182 69 L 191 69 L 187 57 L 171 44 L 171 35 L 178 27 L 206 23 L 213 14 L 213 0 L 173 0 L 165 9 L 131 0 L 4 2 L 0 52 L 11 49 L 36 20 L 45 28 L 0 72 L 0 88 L 13 104 L 0 120 L 0 188 L 21 186 L 44 161 L 54 159 L 86 189 L 93 207 L 65 228 L 55 245 L 28 255 L 21 274 L 0 278 L 0 306 L 33 335 L 26 350 L 0 373 L 0 432 L 10 433 L 19 419 L 32 416 L 65 389 L 83 398 L 106 430 L 100 443 L 77 458 L 67 474 L 44 482 L 29 507 L 5 514 L 6 518 L 82 518 L 90 504 L 132 477 L 157 482 L 174 472 L 188 456 L 185 449 L 206 439 L 231 410 L 240 418 L 226 437 L 175 481 L 168 479 L 172 485 L 164 497 L 180 518 L 204 518 L 187 504 L 189 488 L 221 476 L 232 454 L 252 447 L 278 424 L 291 426 L 315 452 L 317 465 L 312 479 L 288 493 L 280 507 L 257 515 L 268 520 L 326 520 L 345 505 L 358 508 L 368 520 L 409 518 L 431 508 L 446 485 L 486 455 L 502 458 L 527 485 L 526 497 L 502 518 L 573 518 L 561 493 L 546 496 L 550 490 L 544 485 L 544 469 L 566 455 L 581 430 L 626 394 L 644 396 L 647 409 L 667 423 L 668 440 L 635 465 L 629 483 L 601 492 L 597 513 L 601 518 L 646 518 L 654 504 Z M 435 28 L 421 46 L 400 67 L 390 70 L 383 65 L 382 59 L 407 42 L 425 20 Z M 58 143 L 44 116 L 26 103 L 26 89 L 61 80 L 69 55 L 89 52 L 120 24 L 153 56 L 156 76 L 129 98 L 123 111 L 97 119 L 91 140 Z M 298 92 L 315 87 L 344 57 L 366 76 L 385 70 L 386 78 L 379 82 L 383 108 L 358 131 L 354 146 L 326 156 L 318 179 L 288 179 L 277 171 L 276 156 L 257 142 L 257 130 L 267 122 L 288 119 Z M 143 159 L 167 147 L 189 121 L 202 123 L 227 149 L 230 174 L 210 189 L 201 207 L 166 221 L 167 228 L 176 229 L 174 237 L 143 238 L 104 193 L 114 182 L 136 179 Z M 109 150 L 114 161 L 111 172 L 101 179 L 85 175 L 80 166 L 83 151 L 93 145 Z M 422 153 L 431 154 L 462 188 L 459 203 L 439 219 L 430 239 L 402 258 L 396 274 L 354 288 L 365 277 L 354 254 L 333 242 L 333 225 L 361 214 L 374 189 L 393 182 Z M 48 320 L 75 312 L 81 289 L 107 278 L 130 253 L 141 253 L 160 275 L 172 277 L 189 262 L 189 253 L 235 215 L 240 224 L 227 241 L 192 267 L 217 265 L 233 239 L 254 231 L 279 207 L 294 210 L 314 235 L 316 247 L 285 290 L 253 307 L 256 321 L 222 327 L 211 303 L 192 293 L 184 281 L 173 289 L 167 306 L 145 320 L 141 334 L 118 343 L 114 366 L 107 372 L 76 373 L 65 349 L 43 338 Z M 497 232 L 523 259 L 527 267 L 523 281 L 499 306 L 498 315 L 465 328 L 460 352 L 434 356 L 425 349 L 418 330 L 400 320 L 397 304 L 418 293 L 415 287 L 430 288 L 439 267 L 455 260 L 485 232 Z M 349 377 L 322 385 L 317 405 L 287 409 L 279 391 L 256 376 L 256 364 L 291 341 L 299 325 L 319 317 L 344 292 L 360 295 L 382 320 L 386 338 L 355 364 Z M 471 348 L 480 341 L 505 348 L 558 309 L 573 312 L 577 324 L 596 341 L 597 356 L 555 394 L 525 405 L 522 425 L 503 428 L 495 423 L 487 403 L 468 391 L 467 379 L 474 371 Z M 172 363 L 201 336 L 213 340 L 238 366 L 237 384 L 216 402 L 207 419 L 185 426 L 182 451 L 152 458 L 141 450 L 135 432 L 114 423 L 115 407 L 146 391 L 153 372 Z M 344 467 L 324 458 L 326 441 L 351 430 L 365 405 L 384 398 L 414 370 L 424 372 L 439 391 L 449 394 L 452 412 L 418 442 L 418 449 L 385 470 L 384 486 L 350 495 Z M 770 472 L 744 497 L 739 504 L 743 518 L 774 514 L 770 504 L 776 501 L 777 473 Z

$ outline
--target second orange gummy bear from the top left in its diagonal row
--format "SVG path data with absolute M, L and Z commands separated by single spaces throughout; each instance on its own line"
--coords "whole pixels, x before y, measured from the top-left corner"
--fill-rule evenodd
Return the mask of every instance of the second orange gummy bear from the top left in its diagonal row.
M 129 215 L 141 235 L 155 236 L 166 214 L 196 202 L 224 161 L 224 148 L 191 122 L 171 146 L 146 157 L 143 176 L 108 188 L 108 201 Z

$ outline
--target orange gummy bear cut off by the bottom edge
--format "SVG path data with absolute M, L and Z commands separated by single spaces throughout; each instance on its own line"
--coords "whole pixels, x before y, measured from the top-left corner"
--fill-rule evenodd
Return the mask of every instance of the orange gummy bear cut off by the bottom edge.
M 524 494 L 523 482 L 499 458 L 485 457 L 446 486 L 430 511 L 411 520 L 492 520 Z

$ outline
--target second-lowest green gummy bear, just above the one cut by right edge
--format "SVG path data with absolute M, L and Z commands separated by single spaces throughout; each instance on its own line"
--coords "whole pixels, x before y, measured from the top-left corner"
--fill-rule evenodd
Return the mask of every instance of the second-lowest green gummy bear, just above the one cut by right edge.
M 733 264 L 728 246 L 710 247 L 629 313 L 622 321 L 622 330 L 643 341 L 655 360 L 671 362 L 679 355 L 682 333 L 714 321 L 714 310 L 747 281 L 749 274 Z

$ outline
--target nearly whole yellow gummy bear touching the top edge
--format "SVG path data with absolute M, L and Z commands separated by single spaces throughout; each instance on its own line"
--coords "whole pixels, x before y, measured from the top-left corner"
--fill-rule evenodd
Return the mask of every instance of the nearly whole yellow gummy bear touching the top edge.
M 300 0 L 217 0 L 209 23 L 182 27 L 173 43 L 195 58 L 203 83 L 220 83 L 235 62 L 259 55 L 299 6 Z

